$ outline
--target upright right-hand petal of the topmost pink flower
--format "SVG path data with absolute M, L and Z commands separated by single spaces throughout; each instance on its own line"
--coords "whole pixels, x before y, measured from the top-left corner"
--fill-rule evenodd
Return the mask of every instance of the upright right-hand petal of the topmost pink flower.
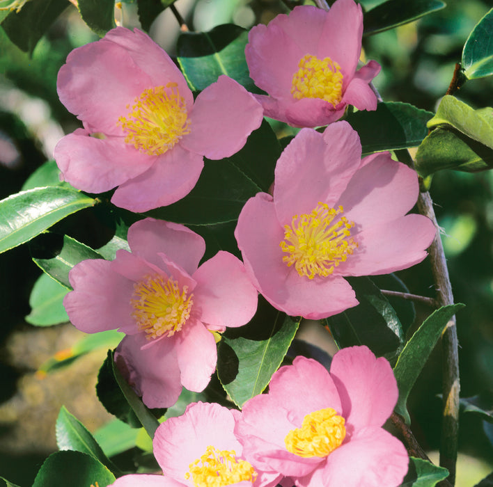
M 331 6 L 320 34 L 317 57 L 331 58 L 341 66 L 343 90 L 356 71 L 361 53 L 363 13 L 353 0 L 337 0 Z

